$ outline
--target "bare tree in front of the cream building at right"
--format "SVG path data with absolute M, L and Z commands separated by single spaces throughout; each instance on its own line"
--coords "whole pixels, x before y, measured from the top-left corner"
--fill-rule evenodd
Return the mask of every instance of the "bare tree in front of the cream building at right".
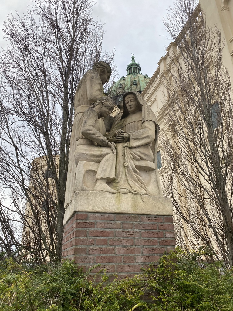
M 179 244 L 208 246 L 233 264 L 233 107 L 224 42 L 195 0 L 177 0 L 164 24 L 169 54 L 168 132 L 162 133 L 163 183 L 176 210 Z M 211 258 L 212 257 L 212 258 Z

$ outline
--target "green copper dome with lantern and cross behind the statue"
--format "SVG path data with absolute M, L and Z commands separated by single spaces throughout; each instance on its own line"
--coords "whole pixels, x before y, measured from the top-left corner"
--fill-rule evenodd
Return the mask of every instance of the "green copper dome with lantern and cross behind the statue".
M 124 93 L 129 91 L 137 91 L 141 93 L 148 84 L 150 78 L 148 75 L 141 74 L 141 67 L 139 63 L 135 62 L 134 55 L 131 63 L 128 64 L 126 77 L 122 76 L 117 82 L 113 82 L 109 90 L 109 96 L 115 101 L 115 104 L 121 100 Z

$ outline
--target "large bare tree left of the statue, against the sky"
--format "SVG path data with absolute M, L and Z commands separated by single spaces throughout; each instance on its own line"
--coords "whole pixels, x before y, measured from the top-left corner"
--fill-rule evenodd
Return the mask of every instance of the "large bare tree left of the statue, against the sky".
M 114 52 L 102 53 L 93 1 L 33 2 L 3 30 L 0 183 L 10 204 L 2 198 L 0 247 L 59 261 L 75 88 L 100 58 L 111 64 Z

